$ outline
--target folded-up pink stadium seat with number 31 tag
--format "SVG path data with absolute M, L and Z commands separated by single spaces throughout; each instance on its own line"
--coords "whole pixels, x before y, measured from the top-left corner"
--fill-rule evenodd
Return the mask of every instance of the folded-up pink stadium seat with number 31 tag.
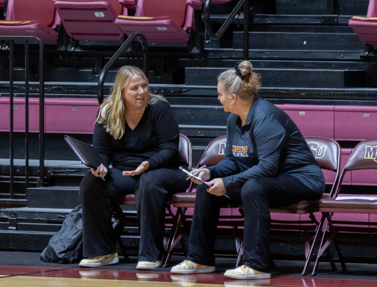
M 124 33 L 115 25 L 127 9 L 118 0 L 55 0 L 67 34 L 75 40 L 119 41 Z

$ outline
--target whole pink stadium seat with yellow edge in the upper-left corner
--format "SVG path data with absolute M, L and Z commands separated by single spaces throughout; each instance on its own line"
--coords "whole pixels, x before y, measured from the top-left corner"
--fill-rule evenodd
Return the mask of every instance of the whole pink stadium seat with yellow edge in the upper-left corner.
M 42 41 L 57 41 L 60 18 L 52 0 L 8 1 L 5 21 L 0 21 L 2 36 L 34 36 Z

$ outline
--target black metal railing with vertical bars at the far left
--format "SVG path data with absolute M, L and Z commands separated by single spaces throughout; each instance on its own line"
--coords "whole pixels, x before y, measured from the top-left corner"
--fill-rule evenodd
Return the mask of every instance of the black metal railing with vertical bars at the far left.
M 9 41 L 9 182 L 10 199 L 14 198 L 14 119 L 13 119 L 13 81 L 14 81 L 14 41 L 25 41 L 25 196 L 29 187 L 29 42 L 39 45 L 39 181 L 44 183 L 44 81 L 43 53 L 44 46 L 40 38 L 31 36 L 0 36 L 0 40 Z

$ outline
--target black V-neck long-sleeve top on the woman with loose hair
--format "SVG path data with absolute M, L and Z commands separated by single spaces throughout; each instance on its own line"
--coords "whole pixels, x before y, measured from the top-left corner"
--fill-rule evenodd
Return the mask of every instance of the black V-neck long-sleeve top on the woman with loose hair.
M 135 170 L 144 160 L 149 169 L 178 167 L 179 130 L 170 105 L 157 101 L 147 105 L 138 125 L 131 130 L 126 124 L 124 135 L 116 140 L 103 125 L 95 123 L 93 147 L 103 164 L 125 171 Z

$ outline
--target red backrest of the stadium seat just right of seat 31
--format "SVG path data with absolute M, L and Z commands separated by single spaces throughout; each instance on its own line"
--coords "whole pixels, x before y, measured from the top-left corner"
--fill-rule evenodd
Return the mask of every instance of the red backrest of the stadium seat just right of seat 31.
M 138 0 L 136 6 L 136 16 L 169 16 L 181 27 L 185 24 L 186 12 L 186 0 Z

